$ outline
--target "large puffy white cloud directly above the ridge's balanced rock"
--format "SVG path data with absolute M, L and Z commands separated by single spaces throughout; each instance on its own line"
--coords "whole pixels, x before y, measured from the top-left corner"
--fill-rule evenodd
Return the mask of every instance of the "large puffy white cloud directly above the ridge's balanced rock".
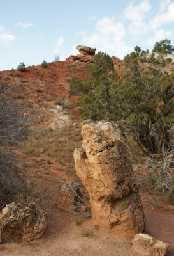
M 96 22 L 93 33 L 83 36 L 82 42 L 89 47 L 96 47 L 98 51 L 123 58 L 132 49 L 124 42 L 125 33 L 122 22 L 104 17 Z

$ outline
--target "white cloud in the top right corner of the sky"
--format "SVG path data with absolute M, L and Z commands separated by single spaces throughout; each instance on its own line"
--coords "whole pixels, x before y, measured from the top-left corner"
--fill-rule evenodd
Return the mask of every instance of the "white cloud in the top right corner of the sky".
M 161 1 L 161 10 L 157 13 L 157 15 L 150 21 L 150 26 L 152 29 L 157 29 L 160 26 L 174 22 L 174 3 L 168 4 L 169 1 L 166 1 L 167 3 L 163 3 L 164 1 Z M 168 4 L 166 12 L 163 12 L 166 9 L 166 6 Z

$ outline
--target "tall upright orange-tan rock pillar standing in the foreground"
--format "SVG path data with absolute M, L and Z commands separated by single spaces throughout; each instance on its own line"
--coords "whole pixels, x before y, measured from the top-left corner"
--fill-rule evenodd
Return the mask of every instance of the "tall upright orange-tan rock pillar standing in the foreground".
M 89 192 L 92 219 L 113 234 L 131 239 L 145 228 L 145 216 L 119 127 L 87 120 L 82 136 L 82 148 L 74 152 L 75 168 Z

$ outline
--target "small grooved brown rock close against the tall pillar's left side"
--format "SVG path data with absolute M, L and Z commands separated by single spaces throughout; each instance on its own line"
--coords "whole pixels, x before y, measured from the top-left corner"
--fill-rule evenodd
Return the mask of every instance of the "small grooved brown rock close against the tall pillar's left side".
M 85 211 L 82 193 L 80 193 L 80 184 L 63 184 L 57 206 L 65 211 Z

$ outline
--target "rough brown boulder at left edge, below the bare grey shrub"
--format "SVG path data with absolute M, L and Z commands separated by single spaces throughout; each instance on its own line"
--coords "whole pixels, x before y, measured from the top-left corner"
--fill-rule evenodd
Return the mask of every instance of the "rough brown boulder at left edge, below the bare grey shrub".
M 46 225 L 47 214 L 40 207 L 13 202 L 0 215 L 0 243 L 38 239 Z

